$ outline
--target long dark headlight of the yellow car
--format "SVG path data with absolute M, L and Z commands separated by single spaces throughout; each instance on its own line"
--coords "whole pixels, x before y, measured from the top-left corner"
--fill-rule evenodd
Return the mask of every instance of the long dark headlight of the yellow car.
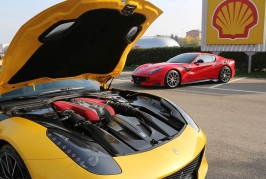
M 99 175 L 120 174 L 122 171 L 114 159 L 93 145 L 85 144 L 62 131 L 47 130 L 48 138 L 74 162 L 87 171 Z

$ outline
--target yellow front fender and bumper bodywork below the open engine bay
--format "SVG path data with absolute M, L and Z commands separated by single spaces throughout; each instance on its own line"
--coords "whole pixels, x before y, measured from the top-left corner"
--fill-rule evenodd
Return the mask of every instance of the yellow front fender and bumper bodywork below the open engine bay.
M 153 150 L 115 157 L 122 174 L 104 176 L 92 174 L 78 166 L 48 139 L 46 128 L 37 123 L 14 117 L 0 122 L 0 132 L 1 140 L 9 142 L 21 155 L 33 179 L 163 178 L 190 163 L 206 144 L 202 131 L 198 133 L 187 126 L 180 136 Z M 207 169 L 204 157 L 199 178 L 205 178 Z

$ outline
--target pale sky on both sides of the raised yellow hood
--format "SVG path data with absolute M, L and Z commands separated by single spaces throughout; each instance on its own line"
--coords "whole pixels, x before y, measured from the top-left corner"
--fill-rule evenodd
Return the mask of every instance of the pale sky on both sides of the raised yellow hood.
M 0 44 L 10 43 L 19 28 L 31 17 L 62 0 L 1 0 Z M 201 29 L 202 0 L 149 0 L 164 13 L 144 36 L 177 35 Z

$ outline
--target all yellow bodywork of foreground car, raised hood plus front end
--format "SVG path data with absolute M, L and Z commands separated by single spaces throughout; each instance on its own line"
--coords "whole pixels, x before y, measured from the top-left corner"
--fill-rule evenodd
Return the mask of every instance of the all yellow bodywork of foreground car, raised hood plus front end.
M 127 4 L 137 5 L 136 12 L 144 13 L 147 20 L 143 31 L 128 45 L 116 69 L 104 76 L 83 74 L 72 77 L 98 80 L 105 84 L 110 76 L 121 73 L 128 52 L 149 25 L 162 13 L 157 7 L 144 0 L 129 0 Z M 60 79 L 40 78 L 15 85 L 7 82 L 26 63 L 30 56 L 42 45 L 37 39 L 44 30 L 59 20 L 75 19 L 88 10 L 112 8 L 121 10 L 125 4 L 121 0 L 67 0 L 55 5 L 32 18 L 16 34 L 3 60 L 0 76 L 0 94 L 22 86 Z M 82 64 L 81 64 L 82 65 Z M 11 68 L 10 68 L 11 67 Z M 109 77 L 108 77 L 109 76 Z M 99 77 L 105 77 L 99 80 Z M 69 78 L 68 78 L 69 79 Z M 137 154 L 119 156 L 114 159 L 122 169 L 119 175 L 95 175 L 73 162 L 47 136 L 46 128 L 21 117 L 12 117 L 0 122 L 0 140 L 11 144 L 24 160 L 33 179 L 155 179 L 163 178 L 190 163 L 205 147 L 206 137 L 202 131 L 196 132 L 190 126 L 172 141 L 153 150 Z M 205 178 L 208 165 L 202 160 L 199 178 Z

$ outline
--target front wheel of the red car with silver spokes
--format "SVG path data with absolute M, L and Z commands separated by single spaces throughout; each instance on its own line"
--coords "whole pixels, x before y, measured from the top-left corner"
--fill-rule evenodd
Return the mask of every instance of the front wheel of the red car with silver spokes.
M 176 88 L 178 85 L 180 85 L 180 74 L 176 70 L 170 70 L 167 72 L 167 74 L 164 77 L 164 84 L 167 88 Z

